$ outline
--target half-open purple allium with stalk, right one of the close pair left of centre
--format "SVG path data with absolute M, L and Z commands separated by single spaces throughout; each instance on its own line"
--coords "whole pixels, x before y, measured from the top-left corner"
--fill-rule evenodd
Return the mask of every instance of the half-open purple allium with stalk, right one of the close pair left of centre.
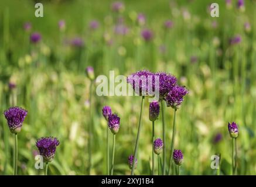
M 115 134 L 118 133 L 120 128 L 120 117 L 117 113 L 111 113 L 108 116 L 108 127 L 113 133 L 113 146 L 112 146 L 112 166 L 111 166 L 111 175 L 114 173 L 114 160 L 115 160 Z

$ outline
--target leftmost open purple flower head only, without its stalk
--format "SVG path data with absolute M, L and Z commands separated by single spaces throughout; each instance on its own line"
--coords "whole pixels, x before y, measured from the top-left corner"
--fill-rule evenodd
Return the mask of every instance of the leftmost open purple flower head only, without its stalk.
M 11 107 L 4 112 L 11 133 L 19 133 L 22 123 L 28 115 L 28 111 L 19 108 L 18 106 Z

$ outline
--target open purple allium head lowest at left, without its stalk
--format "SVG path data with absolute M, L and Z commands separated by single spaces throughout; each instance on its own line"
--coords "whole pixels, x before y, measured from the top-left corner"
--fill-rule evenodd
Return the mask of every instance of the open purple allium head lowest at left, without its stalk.
M 36 147 L 39 150 L 40 155 L 43 156 L 44 162 L 51 162 L 54 158 L 56 147 L 60 142 L 54 137 L 42 137 L 36 141 Z

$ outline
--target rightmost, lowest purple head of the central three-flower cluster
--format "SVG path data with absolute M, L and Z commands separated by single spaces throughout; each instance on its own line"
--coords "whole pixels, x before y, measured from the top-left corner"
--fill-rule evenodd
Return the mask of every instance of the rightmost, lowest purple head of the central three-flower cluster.
M 189 91 L 187 91 L 185 86 L 175 85 L 165 97 L 167 106 L 178 109 L 187 93 L 189 93 Z

